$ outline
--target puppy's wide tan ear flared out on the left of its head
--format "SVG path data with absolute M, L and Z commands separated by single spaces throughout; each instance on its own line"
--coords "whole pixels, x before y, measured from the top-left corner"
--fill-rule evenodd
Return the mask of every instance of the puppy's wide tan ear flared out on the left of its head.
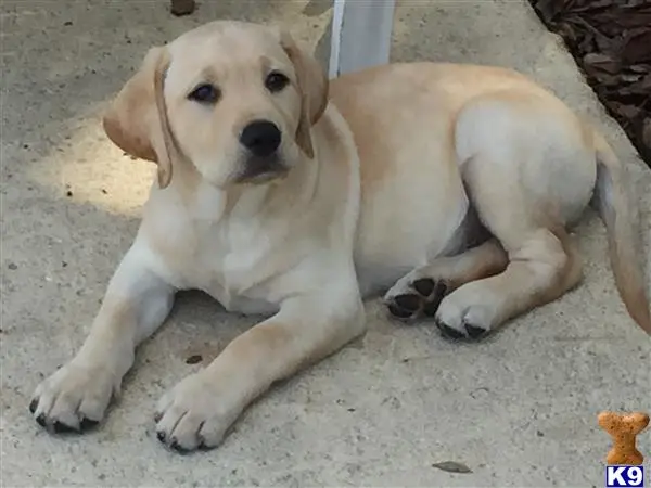
M 103 118 L 104 131 L 113 143 L 127 154 L 158 164 L 162 189 L 171 180 L 171 159 L 176 155 L 163 95 L 168 66 L 166 48 L 150 49 Z

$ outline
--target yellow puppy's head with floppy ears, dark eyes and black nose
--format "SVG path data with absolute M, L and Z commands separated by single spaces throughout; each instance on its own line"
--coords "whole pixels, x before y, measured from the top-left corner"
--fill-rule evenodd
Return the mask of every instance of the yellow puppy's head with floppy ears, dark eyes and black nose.
M 328 79 L 291 36 L 214 22 L 152 48 L 104 116 L 108 138 L 158 165 L 191 162 L 219 188 L 263 183 L 314 157 L 310 127 L 328 103 Z

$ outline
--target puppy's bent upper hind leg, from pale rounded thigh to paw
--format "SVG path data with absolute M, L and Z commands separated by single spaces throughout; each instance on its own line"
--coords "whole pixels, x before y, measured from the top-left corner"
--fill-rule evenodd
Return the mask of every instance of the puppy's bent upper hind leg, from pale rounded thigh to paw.
M 436 311 L 444 334 L 475 338 L 578 284 L 565 226 L 590 201 L 596 158 L 576 116 L 541 91 L 473 100 L 458 115 L 455 146 L 471 205 L 508 256 L 503 272 L 460 286 Z

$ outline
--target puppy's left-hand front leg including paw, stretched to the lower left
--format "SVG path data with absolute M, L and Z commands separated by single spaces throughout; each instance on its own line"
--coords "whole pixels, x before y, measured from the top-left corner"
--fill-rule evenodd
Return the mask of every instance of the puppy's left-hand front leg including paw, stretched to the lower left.
M 153 271 L 153 258 L 136 241 L 77 355 L 36 388 L 29 410 L 41 426 L 84 431 L 104 416 L 133 364 L 136 346 L 163 323 L 174 301 L 175 288 Z

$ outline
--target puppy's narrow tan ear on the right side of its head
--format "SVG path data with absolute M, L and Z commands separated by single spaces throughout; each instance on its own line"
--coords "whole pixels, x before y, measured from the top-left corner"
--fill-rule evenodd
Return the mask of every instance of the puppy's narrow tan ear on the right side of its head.
M 280 33 L 280 44 L 294 64 L 301 92 L 301 120 L 296 130 L 296 144 L 315 156 L 310 127 L 316 124 L 328 105 L 328 77 L 319 62 L 299 48 L 286 31 Z

